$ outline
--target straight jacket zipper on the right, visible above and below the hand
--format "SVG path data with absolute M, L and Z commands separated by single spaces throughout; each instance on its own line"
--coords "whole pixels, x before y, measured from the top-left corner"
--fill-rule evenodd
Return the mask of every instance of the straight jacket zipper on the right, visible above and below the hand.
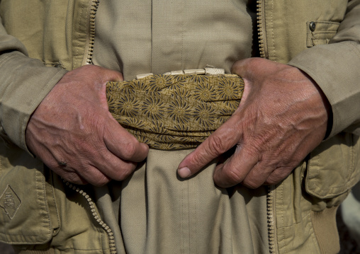
M 266 33 L 265 33 L 265 13 L 264 1 L 257 0 L 257 35 L 259 39 L 260 57 L 268 58 L 266 52 Z M 276 233 L 275 233 L 275 214 L 274 214 L 274 186 L 266 187 L 266 217 L 269 238 L 269 253 L 276 253 Z

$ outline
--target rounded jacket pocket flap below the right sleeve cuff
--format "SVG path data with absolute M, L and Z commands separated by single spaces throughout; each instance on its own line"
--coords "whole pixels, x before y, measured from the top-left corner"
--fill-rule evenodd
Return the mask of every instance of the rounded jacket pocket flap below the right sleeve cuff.
M 359 136 L 340 133 L 310 154 L 305 190 L 320 199 L 348 192 L 360 179 Z

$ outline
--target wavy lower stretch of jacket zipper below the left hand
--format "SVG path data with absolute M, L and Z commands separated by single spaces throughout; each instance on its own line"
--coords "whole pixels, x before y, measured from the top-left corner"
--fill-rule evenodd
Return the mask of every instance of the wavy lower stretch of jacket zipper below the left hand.
M 110 227 L 108 225 L 106 225 L 101 220 L 99 215 L 96 213 L 95 205 L 94 205 L 94 202 L 91 200 L 91 197 L 89 197 L 89 195 L 87 195 L 86 192 L 84 192 L 84 190 L 81 190 L 79 187 L 73 185 L 72 183 L 69 183 L 67 180 L 62 179 L 62 181 L 65 183 L 65 185 L 67 185 L 67 187 L 69 187 L 70 189 L 78 192 L 79 194 L 82 195 L 82 197 L 84 197 L 87 204 L 89 204 L 89 209 L 91 211 L 92 216 L 94 217 L 96 222 L 103 228 L 103 230 L 105 230 L 106 233 L 108 234 L 108 241 L 110 243 L 109 244 L 110 253 L 111 254 L 116 254 L 116 246 L 115 246 L 115 239 L 114 239 L 114 236 L 113 236 L 113 231 L 110 229 Z

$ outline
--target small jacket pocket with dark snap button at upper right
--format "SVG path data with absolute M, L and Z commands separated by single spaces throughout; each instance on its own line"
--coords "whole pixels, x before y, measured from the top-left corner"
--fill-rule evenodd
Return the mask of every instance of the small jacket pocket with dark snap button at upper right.
M 340 23 L 330 21 L 308 21 L 308 36 L 306 41 L 307 47 L 327 44 L 337 33 Z

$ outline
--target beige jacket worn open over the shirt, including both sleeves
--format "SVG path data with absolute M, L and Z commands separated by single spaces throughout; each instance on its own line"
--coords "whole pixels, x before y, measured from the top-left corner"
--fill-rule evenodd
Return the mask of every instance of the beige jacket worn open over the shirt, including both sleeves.
M 86 201 L 89 197 L 81 200 L 45 170 L 28 153 L 24 138 L 31 113 L 66 70 L 91 63 L 97 4 L 96 0 L 0 1 L 1 241 L 45 244 L 60 228 L 76 224 L 86 232 L 83 239 L 100 235 L 103 240 L 81 243 L 92 248 L 90 253 L 110 253 L 113 248 L 101 221 L 96 224 L 83 217 L 89 214 L 84 212 L 89 205 L 99 214 Z M 305 71 L 322 88 L 333 113 L 327 140 L 269 190 L 270 251 L 333 253 L 339 247 L 331 233 L 336 207 L 360 178 L 360 1 L 259 0 L 258 4 L 261 57 Z M 83 216 L 64 221 L 67 212 Z

